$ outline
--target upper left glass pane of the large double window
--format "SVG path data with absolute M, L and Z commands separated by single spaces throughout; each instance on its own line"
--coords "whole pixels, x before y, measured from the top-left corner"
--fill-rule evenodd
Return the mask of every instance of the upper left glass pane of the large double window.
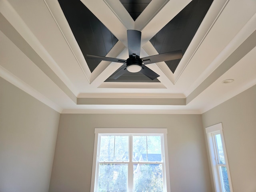
M 128 140 L 129 136 L 101 136 L 99 161 L 127 162 L 129 160 Z

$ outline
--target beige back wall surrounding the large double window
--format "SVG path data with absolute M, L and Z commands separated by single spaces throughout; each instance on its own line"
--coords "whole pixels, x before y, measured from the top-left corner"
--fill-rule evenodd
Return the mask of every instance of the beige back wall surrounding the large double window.
M 61 114 L 49 192 L 89 192 L 94 128 L 167 128 L 171 192 L 211 192 L 201 115 Z

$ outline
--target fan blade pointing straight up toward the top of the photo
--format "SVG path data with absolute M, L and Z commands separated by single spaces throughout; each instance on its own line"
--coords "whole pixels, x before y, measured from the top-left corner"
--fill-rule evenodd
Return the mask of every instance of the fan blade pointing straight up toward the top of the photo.
M 136 54 L 140 57 L 141 32 L 137 30 L 127 30 L 129 56 Z

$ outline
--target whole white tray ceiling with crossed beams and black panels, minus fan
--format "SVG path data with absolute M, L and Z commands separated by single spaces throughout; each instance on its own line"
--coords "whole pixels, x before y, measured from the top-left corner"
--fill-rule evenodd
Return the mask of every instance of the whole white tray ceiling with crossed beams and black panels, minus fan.
M 128 29 L 182 59 L 112 79 L 86 54 L 126 60 Z M 256 84 L 255 30 L 254 0 L 0 0 L 0 76 L 61 113 L 201 114 Z

